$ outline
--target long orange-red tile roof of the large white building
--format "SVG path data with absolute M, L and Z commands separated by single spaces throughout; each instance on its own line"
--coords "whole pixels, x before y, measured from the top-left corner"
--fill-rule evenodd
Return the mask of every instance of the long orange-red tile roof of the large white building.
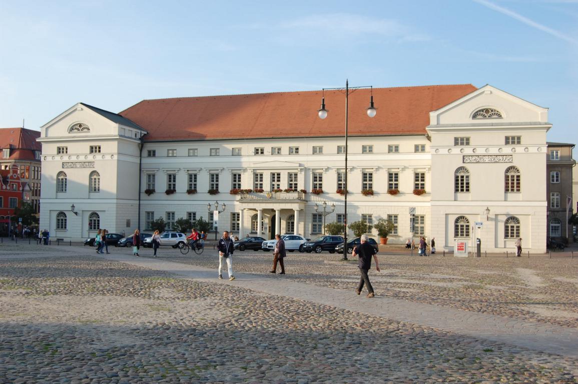
M 423 135 L 429 112 L 476 90 L 472 84 L 373 88 L 377 115 L 369 118 L 370 90 L 349 95 L 349 135 Z M 351 91 L 350 91 L 351 92 Z M 328 117 L 321 120 L 321 91 L 143 100 L 120 115 L 153 140 L 342 136 L 343 91 L 325 91 Z

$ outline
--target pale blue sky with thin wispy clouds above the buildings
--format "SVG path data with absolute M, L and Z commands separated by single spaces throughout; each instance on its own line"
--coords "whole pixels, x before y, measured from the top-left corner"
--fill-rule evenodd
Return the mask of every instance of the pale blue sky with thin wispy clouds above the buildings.
M 76 102 L 491 84 L 578 143 L 578 0 L 0 0 L 0 127 Z M 379 103 L 376 100 L 376 103 Z M 312 106 L 312 110 L 318 106 Z

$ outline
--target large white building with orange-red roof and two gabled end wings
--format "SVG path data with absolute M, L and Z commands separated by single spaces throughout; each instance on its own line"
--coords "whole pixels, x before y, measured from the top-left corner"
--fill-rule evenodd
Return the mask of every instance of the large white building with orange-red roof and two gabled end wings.
M 314 237 L 316 204 L 343 221 L 347 172 L 347 221 L 391 219 L 392 243 L 413 230 L 438 250 L 476 237 L 488 252 L 517 237 L 546 250 L 547 109 L 490 85 L 377 88 L 369 118 L 369 92 L 349 98 L 347 169 L 338 91 L 323 94 L 324 120 L 321 91 L 143 100 L 120 114 L 79 103 L 42 126 L 40 228 L 66 240 L 131 233 L 158 217 L 212 218 L 217 200 L 219 230 Z

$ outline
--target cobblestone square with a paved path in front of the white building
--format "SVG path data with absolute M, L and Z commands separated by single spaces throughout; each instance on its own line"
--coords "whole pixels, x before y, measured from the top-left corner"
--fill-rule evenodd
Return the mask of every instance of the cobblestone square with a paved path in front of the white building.
M 211 251 L 3 243 L 0 383 L 577 382 L 577 259 Z

